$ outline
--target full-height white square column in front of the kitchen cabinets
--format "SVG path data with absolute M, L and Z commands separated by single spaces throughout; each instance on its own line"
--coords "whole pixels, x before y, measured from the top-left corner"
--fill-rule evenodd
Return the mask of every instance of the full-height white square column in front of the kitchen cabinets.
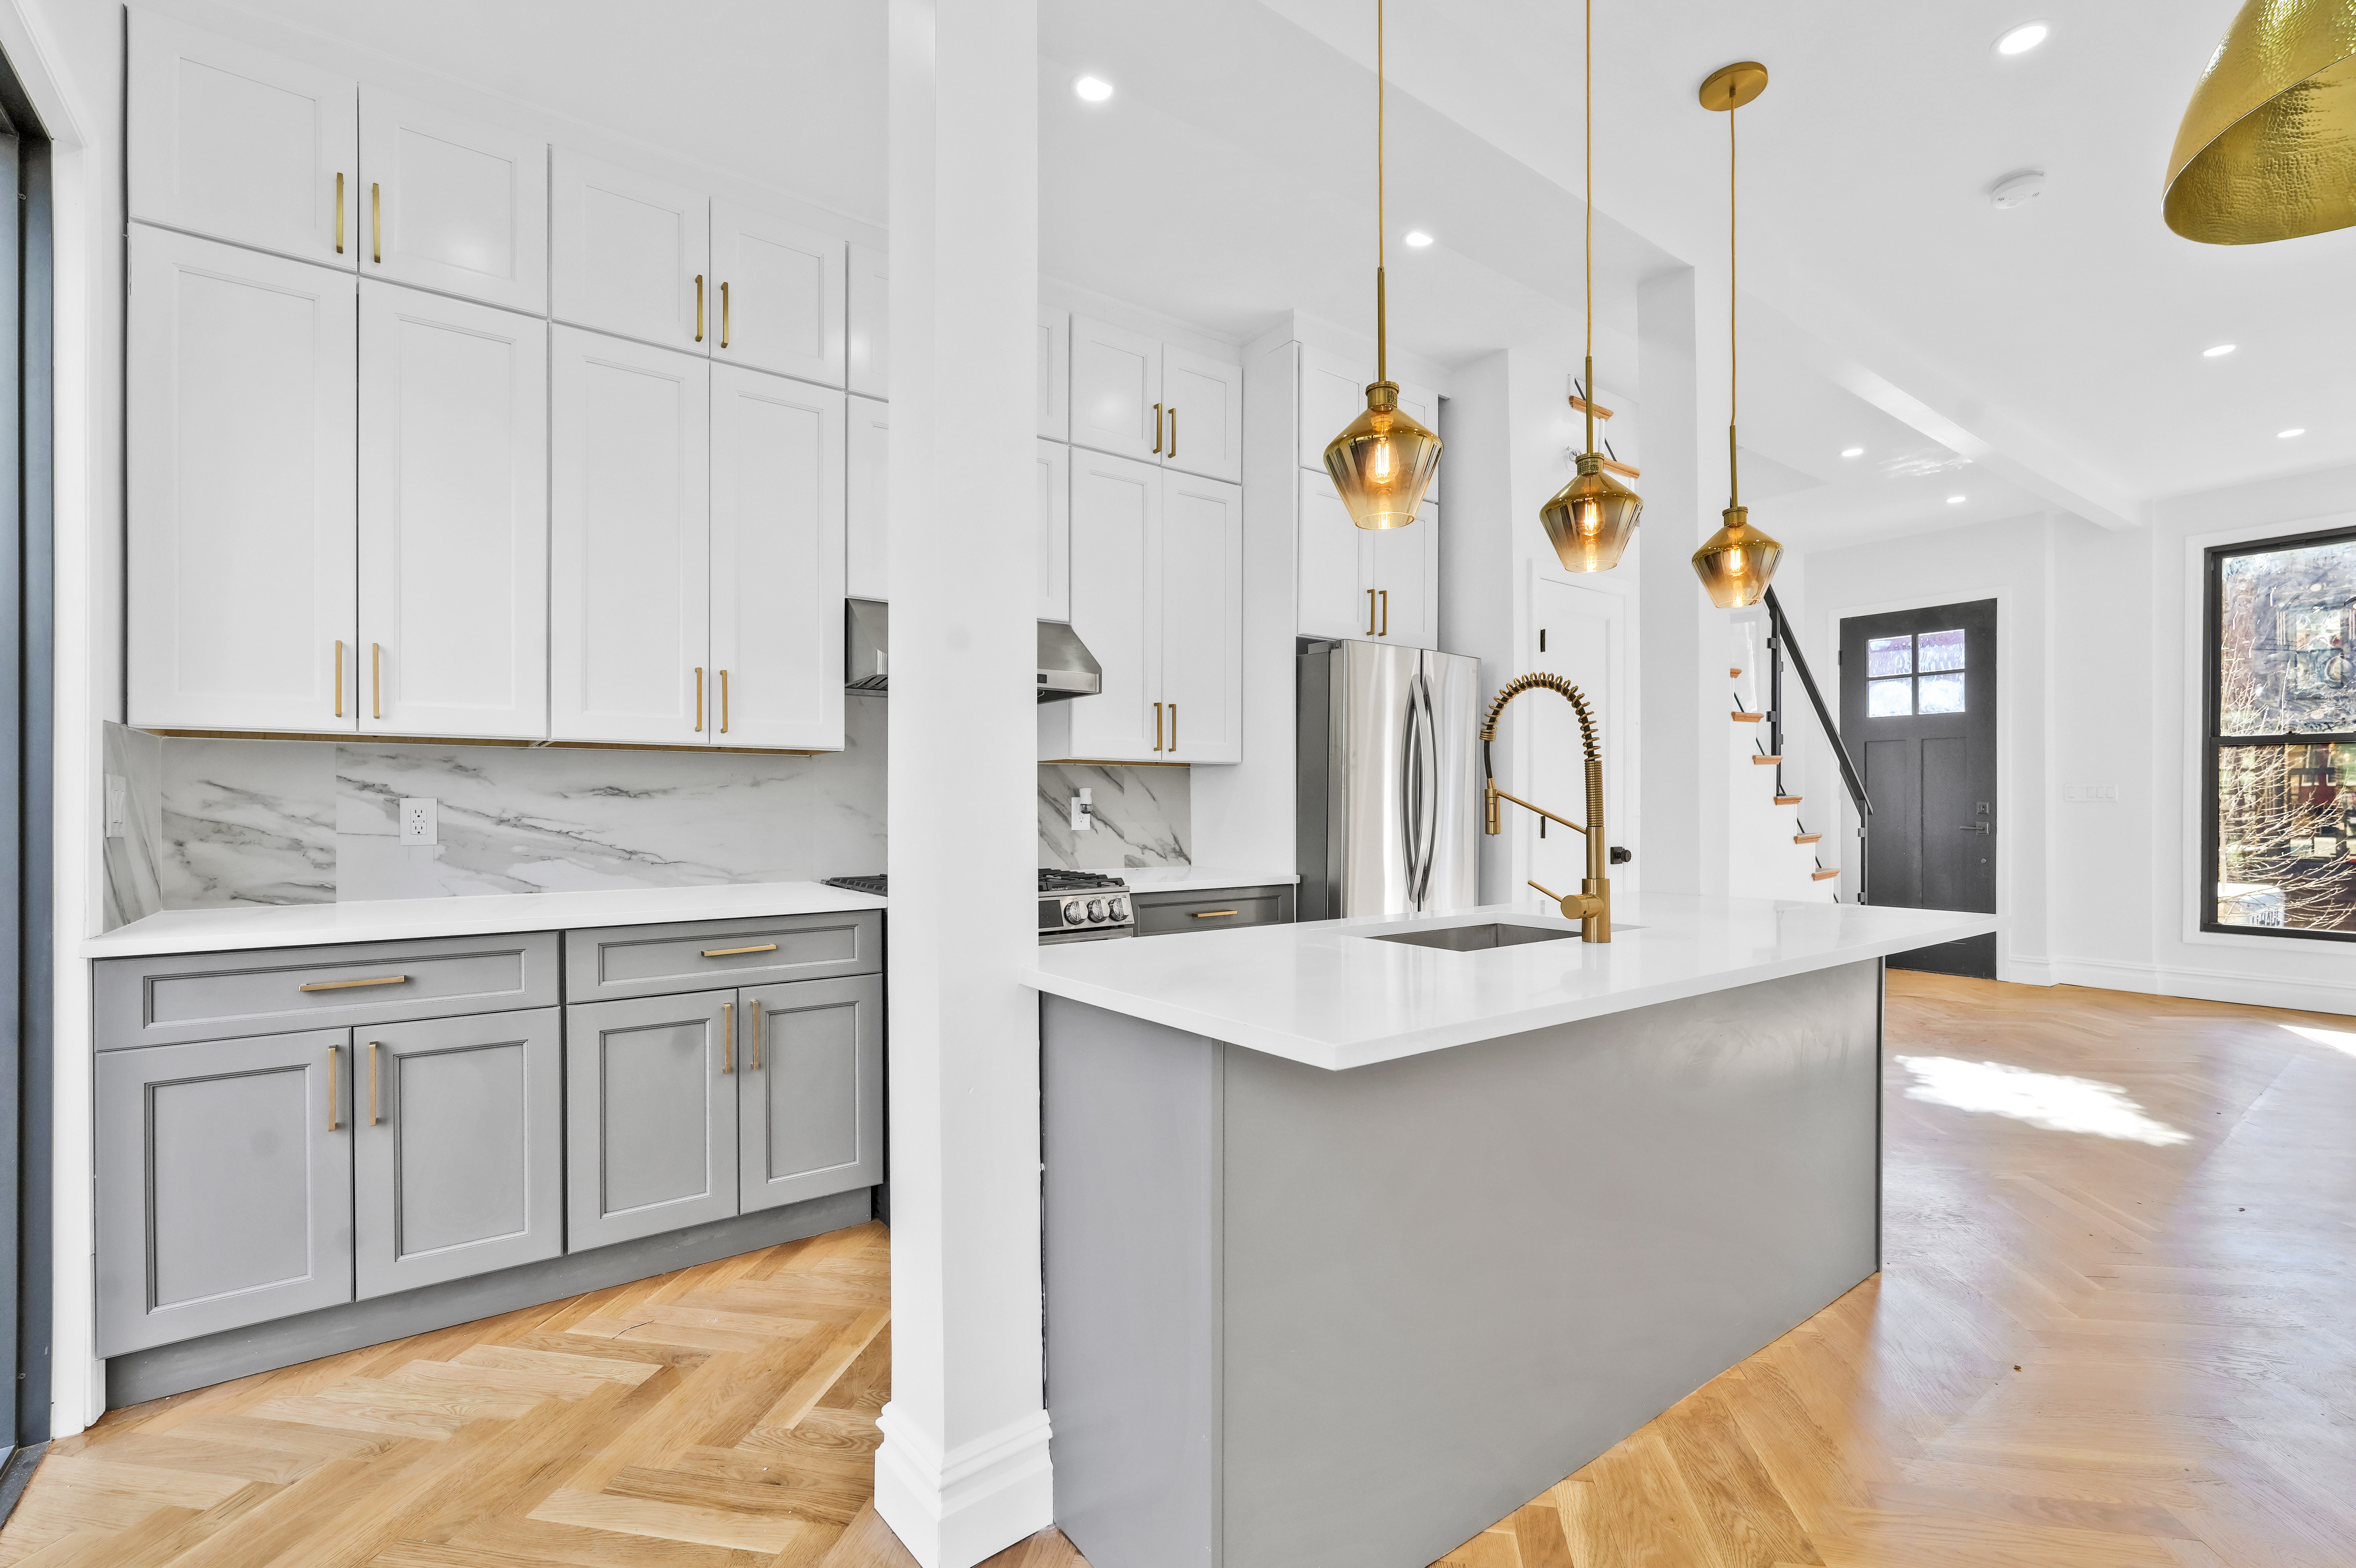
M 891 0 L 893 1401 L 924 1568 L 1053 1521 L 1039 1342 L 1037 0 Z

